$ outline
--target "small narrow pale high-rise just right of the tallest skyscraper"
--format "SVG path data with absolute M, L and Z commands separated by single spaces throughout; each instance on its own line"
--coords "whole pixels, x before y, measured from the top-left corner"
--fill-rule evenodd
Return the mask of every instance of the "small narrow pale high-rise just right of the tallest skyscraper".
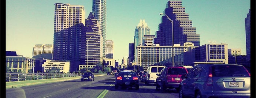
M 112 40 L 107 40 L 105 45 L 105 57 L 108 59 L 114 59 L 114 42 Z

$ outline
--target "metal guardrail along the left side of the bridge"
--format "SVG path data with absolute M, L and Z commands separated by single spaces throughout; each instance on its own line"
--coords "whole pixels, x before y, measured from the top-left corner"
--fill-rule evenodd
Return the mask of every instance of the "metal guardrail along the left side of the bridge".
M 81 76 L 83 73 L 5 73 L 5 82 L 66 78 Z M 94 73 L 100 75 L 106 73 Z

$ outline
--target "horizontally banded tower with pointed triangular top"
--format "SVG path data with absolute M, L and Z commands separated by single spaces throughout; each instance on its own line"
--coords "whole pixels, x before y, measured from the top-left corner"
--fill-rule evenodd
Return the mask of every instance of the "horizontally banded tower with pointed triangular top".
M 103 61 L 103 37 L 101 36 L 100 24 L 94 18 L 92 12 L 85 20 L 81 35 L 81 63 L 89 68 L 95 67 Z M 79 67 L 81 68 L 81 67 Z

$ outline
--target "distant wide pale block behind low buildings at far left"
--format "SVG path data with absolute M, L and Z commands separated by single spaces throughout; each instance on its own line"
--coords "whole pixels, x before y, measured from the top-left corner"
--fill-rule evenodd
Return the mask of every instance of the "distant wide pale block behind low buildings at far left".
M 36 44 L 33 47 L 32 57 L 38 54 L 53 53 L 53 44 Z

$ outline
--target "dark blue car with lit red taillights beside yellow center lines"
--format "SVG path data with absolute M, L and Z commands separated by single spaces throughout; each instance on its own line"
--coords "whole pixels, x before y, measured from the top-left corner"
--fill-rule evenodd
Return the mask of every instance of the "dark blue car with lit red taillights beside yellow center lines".
M 135 72 L 120 71 L 118 76 L 115 77 L 115 89 L 119 87 L 128 87 L 130 89 L 135 87 L 135 89 L 138 90 L 140 87 L 140 79 Z

